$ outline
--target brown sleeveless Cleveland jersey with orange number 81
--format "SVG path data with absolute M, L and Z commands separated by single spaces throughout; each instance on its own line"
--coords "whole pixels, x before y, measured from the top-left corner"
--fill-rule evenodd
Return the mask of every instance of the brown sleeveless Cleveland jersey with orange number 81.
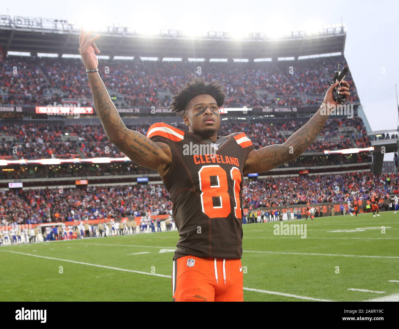
M 168 144 L 172 152 L 162 180 L 180 235 L 173 260 L 187 255 L 241 258 L 242 169 L 254 148 L 251 140 L 233 133 L 212 143 L 166 123 L 154 123 L 147 137 Z

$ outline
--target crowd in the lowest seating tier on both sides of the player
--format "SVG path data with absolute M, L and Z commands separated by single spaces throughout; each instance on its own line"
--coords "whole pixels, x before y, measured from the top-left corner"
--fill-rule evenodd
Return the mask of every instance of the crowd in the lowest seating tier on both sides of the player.
M 399 193 L 397 174 L 371 172 L 269 177 L 246 180 L 243 208 L 292 204 L 343 202 Z M 163 185 L 88 186 L 1 190 L 2 222 L 36 224 L 83 219 L 122 218 L 172 214 L 170 195 Z

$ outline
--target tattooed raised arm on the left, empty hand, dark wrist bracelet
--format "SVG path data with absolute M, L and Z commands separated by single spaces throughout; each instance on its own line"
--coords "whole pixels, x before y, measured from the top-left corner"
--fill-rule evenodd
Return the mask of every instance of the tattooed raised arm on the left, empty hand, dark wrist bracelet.
M 81 29 L 79 52 L 86 69 L 95 69 L 98 67 L 98 60 L 94 51 L 97 53 L 100 51 L 94 40 L 98 38 L 98 35 L 89 39 L 90 35 L 91 32 L 84 35 L 83 28 Z M 94 107 L 109 141 L 132 161 L 140 166 L 156 170 L 163 177 L 172 163 L 169 146 L 162 142 L 154 143 L 141 133 L 127 129 L 109 97 L 99 73 L 89 72 L 87 74 Z

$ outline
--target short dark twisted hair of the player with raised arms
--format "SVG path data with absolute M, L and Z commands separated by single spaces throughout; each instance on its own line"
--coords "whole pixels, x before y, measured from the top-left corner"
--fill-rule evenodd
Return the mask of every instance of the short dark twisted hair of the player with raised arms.
M 212 81 L 211 83 L 205 83 L 205 78 L 195 78 L 191 81 L 187 81 L 184 88 L 179 91 L 177 95 L 174 95 L 173 101 L 170 108 L 173 113 L 177 116 L 183 117 L 184 111 L 186 110 L 187 104 L 198 95 L 211 95 L 217 103 L 218 107 L 221 107 L 226 97 L 223 91 L 223 86 L 219 81 Z

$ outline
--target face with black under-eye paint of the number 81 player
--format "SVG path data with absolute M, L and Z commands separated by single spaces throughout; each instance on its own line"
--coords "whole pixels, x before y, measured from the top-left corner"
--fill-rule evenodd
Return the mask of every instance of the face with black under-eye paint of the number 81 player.
M 220 128 L 219 107 L 211 95 L 198 95 L 186 107 L 183 117 L 189 131 L 205 138 L 216 137 Z

